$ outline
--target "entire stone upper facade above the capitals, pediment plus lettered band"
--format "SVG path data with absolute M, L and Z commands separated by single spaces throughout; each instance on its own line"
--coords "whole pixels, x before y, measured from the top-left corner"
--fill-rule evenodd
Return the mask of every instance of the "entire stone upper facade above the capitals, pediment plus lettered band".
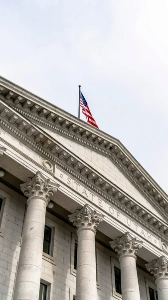
M 39 170 L 69 212 L 91 204 L 109 238 L 129 229 L 144 241 L 142 258 L 168 257 L 168 195 L 118 139 L 2 77 L 0 127 L 1 167 L 23 182 Z

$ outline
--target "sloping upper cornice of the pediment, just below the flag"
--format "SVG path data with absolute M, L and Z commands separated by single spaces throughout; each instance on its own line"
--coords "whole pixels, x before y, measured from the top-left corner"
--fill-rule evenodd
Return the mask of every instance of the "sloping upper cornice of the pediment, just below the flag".
M 5 80 L 3 79 L 2 81 Z M 9 83 L 10 82 L 8 82 L 8 84 Z M 12 85 L 12 83 L 9 85 Z M 40 124 L 53 132 L 57 132 L 85 147 L 107 156 L 143 196 L 146 197 L 155 208 L 159 209 L 160 212 L 165 210 L 164 215 L 167 216 L 168 195 L 119 140 L 93 128 L 87 123 L 20 87 L 15 85 L 14 87 L 16 87 L 17 90 L 13 89 L 12 86 L 0 85 L 0 99 L 33 121 L 33 123 Z M 45 102 L 45 106 L 42 102 Z

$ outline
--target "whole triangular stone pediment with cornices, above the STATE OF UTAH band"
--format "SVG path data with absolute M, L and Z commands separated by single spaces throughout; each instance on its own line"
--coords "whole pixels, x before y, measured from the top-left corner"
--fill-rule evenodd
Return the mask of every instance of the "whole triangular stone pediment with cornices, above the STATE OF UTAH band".
M 119 140 L 4 78 L 0 83 L 0 121 L 6 130 L 67 172 L 73 170 L 149 230 L 168 234 L 167 194 Z

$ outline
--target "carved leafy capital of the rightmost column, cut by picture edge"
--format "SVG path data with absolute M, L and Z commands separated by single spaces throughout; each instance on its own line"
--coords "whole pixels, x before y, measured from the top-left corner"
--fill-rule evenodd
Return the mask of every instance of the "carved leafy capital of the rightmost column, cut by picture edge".
M 154 280 L 161 277 L 168 277 L 168 259 L 165 256 L 161 256 L 157 260 L 146 263 L 146 268 L 151 272 Z

